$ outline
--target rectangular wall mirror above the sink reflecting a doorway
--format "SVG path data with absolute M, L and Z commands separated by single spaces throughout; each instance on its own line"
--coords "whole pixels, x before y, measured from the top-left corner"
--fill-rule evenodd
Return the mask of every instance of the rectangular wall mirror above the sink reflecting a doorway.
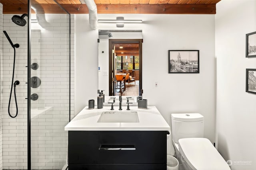
M 142 30 L 99 30 L 98 89 L 106 96 L 141 96 Z

